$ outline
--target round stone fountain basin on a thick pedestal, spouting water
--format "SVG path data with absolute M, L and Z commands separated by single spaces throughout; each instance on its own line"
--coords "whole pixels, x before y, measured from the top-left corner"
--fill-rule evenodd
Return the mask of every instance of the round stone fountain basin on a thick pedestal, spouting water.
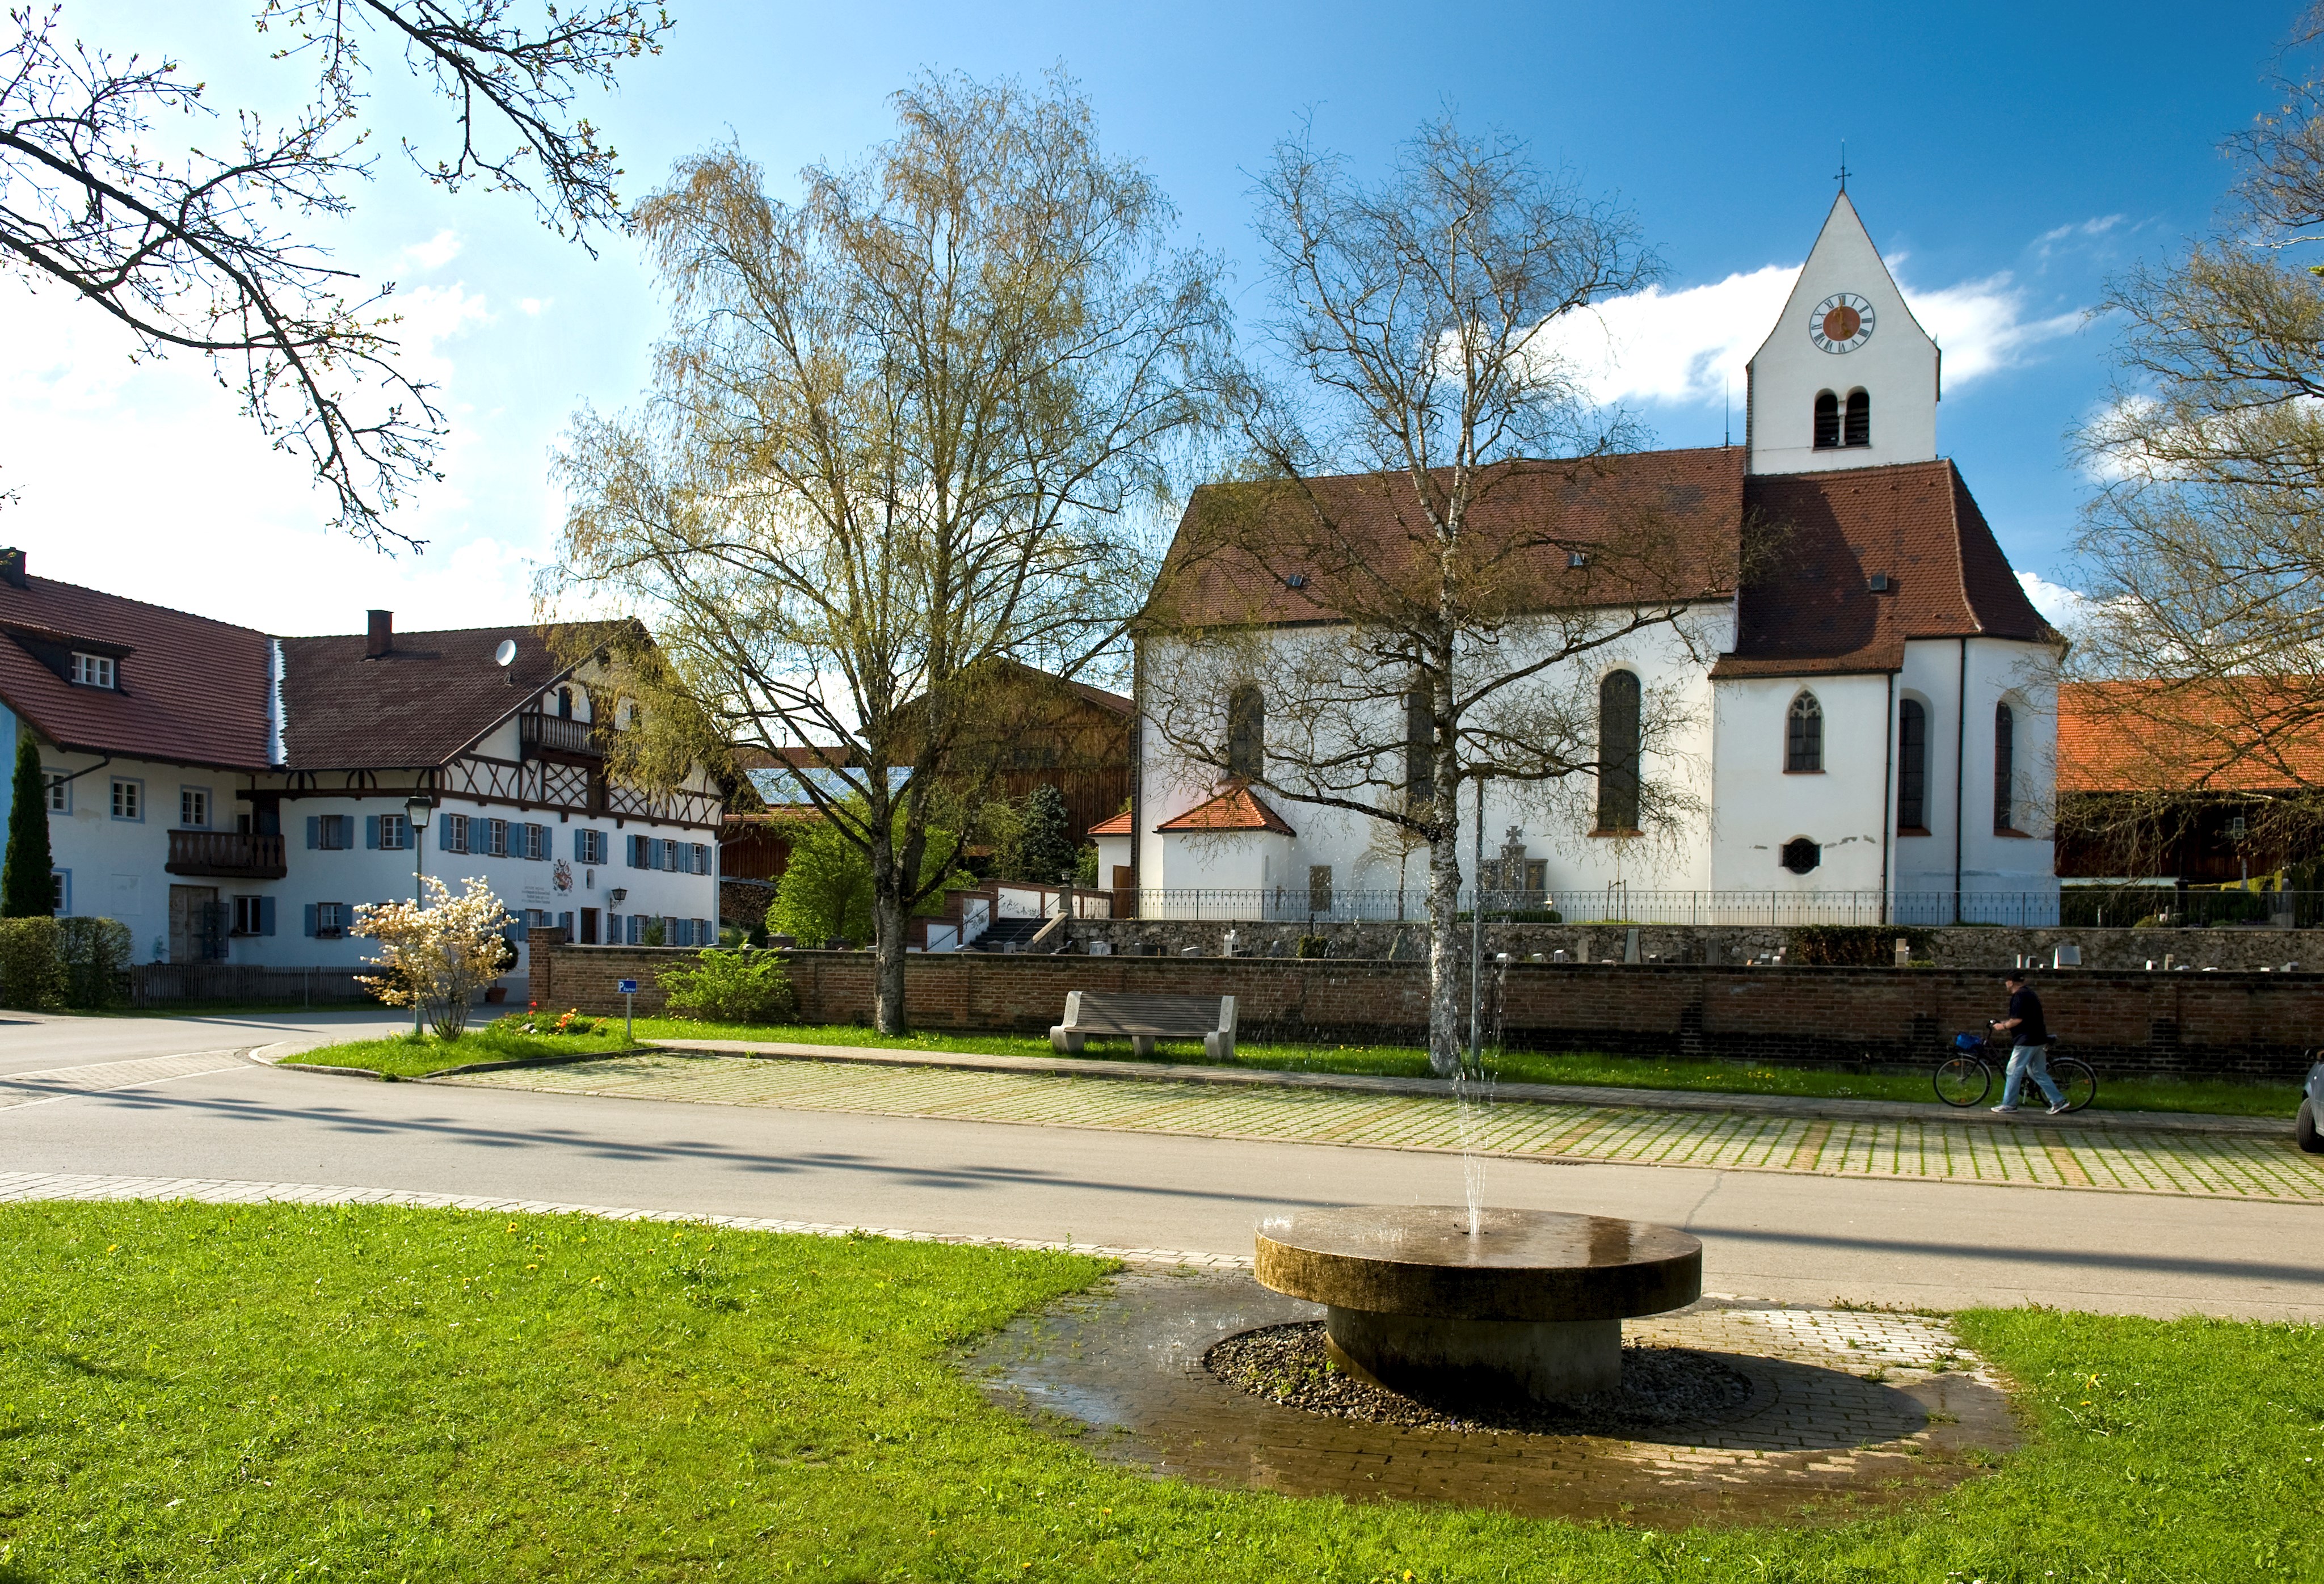
M 1260 1284 L 1325 1305 L 1332 1361 L 1427 1403 L 1566 1403 L 1622 1384 L 1622 1322 L 1703 1296 L 1676 1226 L 1555 1210 L 1360 1205 L 1269 1217 Z

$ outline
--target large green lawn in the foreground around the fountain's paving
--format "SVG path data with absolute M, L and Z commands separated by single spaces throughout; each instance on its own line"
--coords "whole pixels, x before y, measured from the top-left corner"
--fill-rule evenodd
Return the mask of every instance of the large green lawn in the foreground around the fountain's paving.
M 988 1407 L 1057 1252 L 388 1208 L 5 1205 L 0 1582 L 2315 1579 L 2324 1333 L 1971 1312 L 2029 1445 L 1683 1533 L 1213 1491 Z

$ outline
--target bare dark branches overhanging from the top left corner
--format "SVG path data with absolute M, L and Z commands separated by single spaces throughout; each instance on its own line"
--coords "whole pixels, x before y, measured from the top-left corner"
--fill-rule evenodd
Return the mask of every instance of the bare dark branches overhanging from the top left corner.
M 277 448 L 330 485 L 342 527 L 416 543 L 388 513 L 437 476 L 444 416 L 397 365 L 390 288 L 365 290 L 297 235 L 297 221 L 346 214 L 372 170 L 363 49 L 400 46 L 449 100 L 449 153 L 402 144 L 430 181 L 523 193 L 590 246 L 618 216 L 621 170 L 574 93 L 660 53 L 669 16 L 607 0 L 544 5 L 525 26 L 511 0 L 265 0 L 258 33 L 277 58 L 314 65 L 314 100 L 281 125 L 237 111 L 218 144 L 172 158 L 165 121 L 218 125 L 202 84 L 174 60 L 67 44 L 60 12 L 12 9 L 0 49 L 0 260 L 109 314 L 142 355 L 207 355 Z

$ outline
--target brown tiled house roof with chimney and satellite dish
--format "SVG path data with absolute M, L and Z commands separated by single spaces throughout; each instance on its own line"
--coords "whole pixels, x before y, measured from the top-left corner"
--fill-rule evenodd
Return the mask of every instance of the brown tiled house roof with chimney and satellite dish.
M 290 769 L 418 769 L 456 753 L 572 671 L 541 627 L 397 632 L 379 660 L 365 634 L 284 639 L 284 743 Z M 516 643 L 502 669 L 493 650 Z M 260 671 L 263 676 L 263 671 Z

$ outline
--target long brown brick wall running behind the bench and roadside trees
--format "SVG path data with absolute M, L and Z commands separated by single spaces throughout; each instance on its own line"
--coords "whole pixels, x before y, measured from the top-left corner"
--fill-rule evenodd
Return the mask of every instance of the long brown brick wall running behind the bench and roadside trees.
M 616 980 L 653 982 L 693 952 L 535 943 L 544 1010 L 618 1013 Z M 869 952 L 790 952 L 802 1022 L 869 1022 Z M 2305 1073 L 2324 1029 L 2324 973 L 2064 971 L 2038 978 L 2050 1027 L 2101 1073 Z M 1043 1034 L 1069 989 L 1232 994 L 1246 1038 L 1418 1041 L 1427 966 L 1222 957 L 1018 957 L 946 952 L 904 964 L 918 1029 Z M 1741 969 L 1706 964 L 1511 964 L 1487 1027 L 1534 1050 L 1618 1050 L 1738 1061 L 1931 1064 L 1952 1034 L 1980 1031 L 2003 992 L 1966 969 Z M 2289 1089 L 2287 1089 L 2289 1113 Z

